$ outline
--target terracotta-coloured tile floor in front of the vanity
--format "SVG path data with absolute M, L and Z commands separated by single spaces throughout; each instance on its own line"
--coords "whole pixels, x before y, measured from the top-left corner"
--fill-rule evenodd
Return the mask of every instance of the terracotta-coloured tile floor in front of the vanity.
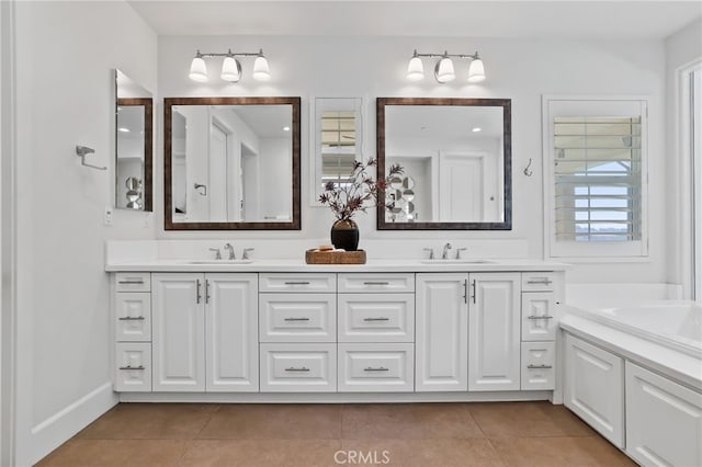
M 339 465 L 635 466 L 550 402 L 121 403 L 38 464 Z

